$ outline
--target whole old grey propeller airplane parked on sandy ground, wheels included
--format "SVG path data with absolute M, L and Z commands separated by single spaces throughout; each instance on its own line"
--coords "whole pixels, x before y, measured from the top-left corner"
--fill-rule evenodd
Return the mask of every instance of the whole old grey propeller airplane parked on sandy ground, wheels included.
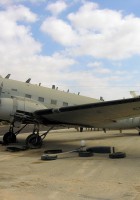
M 8 78 L 7 78 L 8 77 Z M 10 123 L 3 136 L 5 144 L 15 143 L 27 124 L 34 124 L 26 146 L 40 148 L 46 135 L 55 127 L 139 128 L 140 98 L 102 101 L 60 91 L 30 81 L 0 76 L 0 120 Z M 49 129 L 41 134 L 39 125 Z M 15 132 L 15 128 L 19 128 Z

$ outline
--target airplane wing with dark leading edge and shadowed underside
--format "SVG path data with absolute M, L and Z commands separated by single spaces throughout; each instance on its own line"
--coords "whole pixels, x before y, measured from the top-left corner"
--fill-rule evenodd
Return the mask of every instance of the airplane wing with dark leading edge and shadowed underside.
M 38 110 L 34 112 L 34 116 L 45 125 L 67 124 L 96 127 L 96 125 L 115 122 L 118 119 L 140 116 L 140 98 Z

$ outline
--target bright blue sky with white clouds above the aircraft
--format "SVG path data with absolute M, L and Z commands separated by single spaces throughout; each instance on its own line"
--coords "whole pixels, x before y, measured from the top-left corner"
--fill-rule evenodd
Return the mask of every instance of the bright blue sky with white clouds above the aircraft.
M 1 0 L 0 75 L 104 100 L 140 93 L 139 0 Z

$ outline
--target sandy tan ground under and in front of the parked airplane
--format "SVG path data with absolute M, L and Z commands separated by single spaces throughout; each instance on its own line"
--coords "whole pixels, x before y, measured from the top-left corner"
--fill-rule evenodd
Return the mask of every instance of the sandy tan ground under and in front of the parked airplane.
M 18 145 L 23 145 L 28 135 L 19 134 Z M 126 157 L 68 153 L 58 155 L 56 160 L 41 160 L 45 150 L 71 151 L 80 147 L 81 140 L 86 147 L 113 146 Z M 51 131 L 40 149 L 9 152 L 0 145 L 0 200 L 19 199 L 139 200 L 140 136 L 136 130 L 104 133 L 63 129 Z

